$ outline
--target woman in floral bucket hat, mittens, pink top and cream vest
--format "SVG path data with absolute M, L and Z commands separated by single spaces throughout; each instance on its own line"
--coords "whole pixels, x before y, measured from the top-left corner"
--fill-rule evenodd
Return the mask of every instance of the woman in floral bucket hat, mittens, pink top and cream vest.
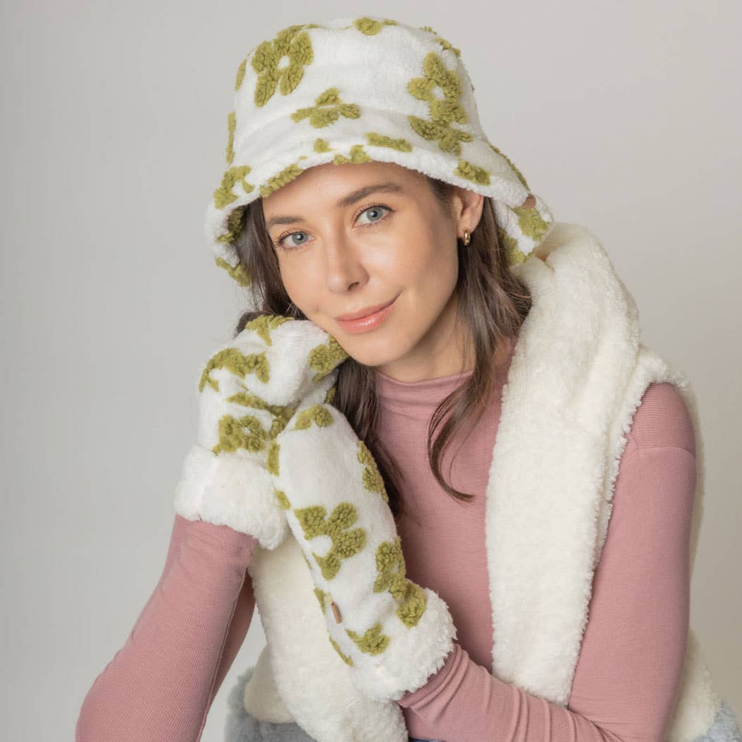
M 688 623 L 692 391 L 600 243 L 488 142 L 459 50 L 391 19 L 291 26 L 235 89 L 207 234 L 260 309 L 200 378 L 162 577 L 77 739 L 200 738 L 256 603 L 229 740 L 734 739 Z M 270 423 L 250 435 L 217 428 L 240 389 Z M 337 493 L 393 569 L 338 557 Z

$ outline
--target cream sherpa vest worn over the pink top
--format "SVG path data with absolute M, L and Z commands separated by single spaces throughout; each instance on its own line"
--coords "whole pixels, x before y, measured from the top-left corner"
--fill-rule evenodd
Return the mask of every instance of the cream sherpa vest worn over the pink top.
M 502 390 L 485 491 L 490 672 L 566 706 L 626 433 L 646 387 L 674 384 L 696 431 L 691 573 L 703 441 L 689 381 L 640 343 L 634 299 L 594 234 L 555 223 L 513 272 L 533 303 Z M 248 571 L 267 643 L 230 692 L 227 742 L 407 742 L 398 703 L 369 700 L 349 680 L 293 536 L 272 551 L 256 546 Z M 666 740 L 740 739 L 690 626 Z

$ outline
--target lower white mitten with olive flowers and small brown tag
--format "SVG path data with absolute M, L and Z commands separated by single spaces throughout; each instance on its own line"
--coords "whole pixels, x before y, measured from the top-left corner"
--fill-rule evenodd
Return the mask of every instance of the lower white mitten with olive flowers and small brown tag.
M 314 399 L 302 401 L 268 459 L 329 641 L 355 687 L 374 700 L 417 690 L 443 665 L 456 628 L 444 600 L 405 576 L 370 450 L 339 410 Z

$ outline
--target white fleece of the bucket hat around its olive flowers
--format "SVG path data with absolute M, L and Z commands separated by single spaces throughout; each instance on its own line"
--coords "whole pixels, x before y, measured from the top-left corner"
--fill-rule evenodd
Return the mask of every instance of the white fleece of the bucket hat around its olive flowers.
M 382 18 L 375 19 L 384 22 Z M 339 17 L 301 30 L 300 36 L 309 38 L 312 61 L 301 65 L 301 79 L 290 93 L 284 95 L 277 90 L 263 105 L 255 103 L 255 91 L 263 76 L 252 67 L 252 54 L 257 47 L 246 56 L 242 82 L 234 92 L 232 103 L 234 159 L 229 166 L 246 166 L 249 171 L 244 180 L 238 178 L 232 185 L 234 200 L 217 207 L 211 199 L 206 206 L 205 234 L 214 257 L 222 257 L 232 266 L 237 264 L 234 246 L 220 240 L 233 209 L 259 197 L 261 189 L 280 177 L 286 168 L 312 168 L 335 162 L 338 156 L 350 159 L 355 145 L 361 145 L 371 160 L 395 162 L 492 197 L 496 200 L 499 225 L 516 240 L 523 254 L 528 255 L 536 240 L 522 228 L 513 209 L 521 206 L 532 191 L 508 158 L 493 148 L 482 130 L 473 84 L 462 57 L 444 48 L 436 33 L 420 27 L 385 24 L 379 33 L 367 35 L 355 27 L 353 20 Z M 270 43 L 273 39 L 266 41 Z M 426 139 L 410 125 L 410 116 L 428 122 L 433 116 L 430 101 L 413 95 L 409 88 L 413 79 L 427 76 L 426 65 L 431 54 L 440 59 L 459 91 L 456 103 L 464 116 L 452 126 L 470 137 L 470 141 L 459 142 L 459 151 L 442 148 L 436 138 Z M 300 120 L 292 118 L 296 111 L 315 108 L 320 96 L 330 88 L 337 88 L 342 103 L 357 106 L 359 115 L 341 114 L 332 125 L 320 128 L 312 125 L 309 116 Z M 441 99 L 442 88 L 434 86 L 433 96 Z M 371 134 L 406 142 L 407 146 L 375 143 L 378 140 Z M 315 150 L 318 138 L 327 142 L 326 151 Z M 463 177 L 462 162 L 481 168 L 482 175 Z M 539 216 L 552 223 L 554 217 L 547 204 L 537 194 L 533 196 Z

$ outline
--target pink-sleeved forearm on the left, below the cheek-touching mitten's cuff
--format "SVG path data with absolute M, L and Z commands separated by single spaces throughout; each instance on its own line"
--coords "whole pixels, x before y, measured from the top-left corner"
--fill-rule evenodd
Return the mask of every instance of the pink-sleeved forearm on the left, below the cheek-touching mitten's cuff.
M 256 543 L 176 514 L 160 580 L 85 696 L 76 742 L 200 739 L 252 620 L 247 567 Z

